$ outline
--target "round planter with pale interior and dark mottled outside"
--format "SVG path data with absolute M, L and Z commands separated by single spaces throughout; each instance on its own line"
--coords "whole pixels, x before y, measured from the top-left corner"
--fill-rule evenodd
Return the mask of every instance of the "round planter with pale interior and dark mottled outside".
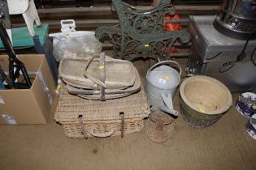
M 213 125 L 231 105 L 231 93 L 219 80 L 196 75 L 180 85 L 180 113 L 193 127 Z

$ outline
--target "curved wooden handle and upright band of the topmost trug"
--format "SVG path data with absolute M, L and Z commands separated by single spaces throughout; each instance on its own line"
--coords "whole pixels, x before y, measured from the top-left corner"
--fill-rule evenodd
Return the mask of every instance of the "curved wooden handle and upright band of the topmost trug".
M 100 70 L 100 79 L 93 77 L 93 75 L 89 74 L 89 72 L 87 71 L 89 64 L 93 61 L 95 57 L 100 57 L 100 66 L 98 66 L 98 69 Z M 101 100 L 105 101 L 105 53 L 100 53 L 100 56 L 95 55 L 89 58 L 88 62 L 85 63 L 85 77 L 92 80 L 94 83 L 97 83 L 100 86 Z

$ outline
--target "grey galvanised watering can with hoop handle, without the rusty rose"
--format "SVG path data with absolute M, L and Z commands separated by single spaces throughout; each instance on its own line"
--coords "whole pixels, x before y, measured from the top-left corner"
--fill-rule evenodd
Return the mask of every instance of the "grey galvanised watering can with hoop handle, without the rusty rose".
M 170 63 L 176 64 L 180 73 L 171 68 L 171 66 L 166 66 L 166 64 Z M 173 109 L 172 98 L 180 84 L 180 75 L 180 64 L 175 61 L 158 62 L 148 70 L 145 91 L 153 111 L 162 110 L 163 112 L 178 116 L 178 112 Z

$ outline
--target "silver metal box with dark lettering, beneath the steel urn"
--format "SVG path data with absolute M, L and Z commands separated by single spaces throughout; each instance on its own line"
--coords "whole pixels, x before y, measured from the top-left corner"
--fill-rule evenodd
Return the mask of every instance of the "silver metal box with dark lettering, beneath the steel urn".
M 252 61 L 256 40 L 250 40 L 246 57 L 237 56 L 245 40 L 236 40 L 219 33 L 213 27 L 214 15 L 190 16 L 189 32 L 193 45 L 189 54 L 187 72 L 219 79 L 230 91 L 251 91 L 256 87 L 256 66 Z M 255 59 L 254 59 L 255 60 Z

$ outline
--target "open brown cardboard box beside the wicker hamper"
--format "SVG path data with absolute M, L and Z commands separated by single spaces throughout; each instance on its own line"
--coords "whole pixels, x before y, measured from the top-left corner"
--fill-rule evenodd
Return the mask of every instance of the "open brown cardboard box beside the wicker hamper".
M 33 81 L 30 89 L 0 90 L 0 124 L 46 124 L 55 97 L 55 85 L 46 57 L 41 54 L 19 55 Z M 8 56 L 0 56 L 8 70 Z

